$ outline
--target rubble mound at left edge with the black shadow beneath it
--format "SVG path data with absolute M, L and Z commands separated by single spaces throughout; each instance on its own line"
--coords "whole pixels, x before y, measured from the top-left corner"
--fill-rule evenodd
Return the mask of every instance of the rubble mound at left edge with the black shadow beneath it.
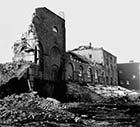
M 29 62 L 13 62 L 0 64 L 0 98 L 29 91 L 27 70 Z

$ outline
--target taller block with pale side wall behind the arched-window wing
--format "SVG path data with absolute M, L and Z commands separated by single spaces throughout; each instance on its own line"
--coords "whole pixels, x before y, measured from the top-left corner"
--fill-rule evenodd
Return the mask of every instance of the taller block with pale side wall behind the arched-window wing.
M 72 52 L 85 56 L 92 62 L 102 65 L 105 76 L 105 84 L 118 85 L 117 76 L 117 57 L 107 52 L 103 48 L 93 48 L 91 44 L 89 46 L 80 46 L 73 49 Z

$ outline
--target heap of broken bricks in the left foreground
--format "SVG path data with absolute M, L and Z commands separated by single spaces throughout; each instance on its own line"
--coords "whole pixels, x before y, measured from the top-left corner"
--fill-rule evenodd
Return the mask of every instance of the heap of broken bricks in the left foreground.
M 61 108 L 60 103 L 40 98 L 33 93 L 11 95 L 0 100 L 0 124 L 24 125 L 31 122 L 53 121 L 74 123 L 75 115 Z

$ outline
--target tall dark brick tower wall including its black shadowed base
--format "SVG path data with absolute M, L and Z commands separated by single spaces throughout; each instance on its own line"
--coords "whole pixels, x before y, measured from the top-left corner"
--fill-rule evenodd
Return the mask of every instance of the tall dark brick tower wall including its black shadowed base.
M 32 23 L 39 45 L 39 75 L 35 76 L 34 87 L 42 96 L 63 98 L 65 20 L 47 8 L 37 8 Z

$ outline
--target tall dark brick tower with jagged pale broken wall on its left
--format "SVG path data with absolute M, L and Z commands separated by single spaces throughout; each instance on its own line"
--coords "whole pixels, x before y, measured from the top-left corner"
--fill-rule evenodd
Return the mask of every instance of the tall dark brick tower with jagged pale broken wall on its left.
M 27 32 L 13 46 L 13 62 L 33 63 L 26 71 L 31 89 L 44 97 L 61 96 L 64 84 L 65 20 L 37 8 Z M 54 92 L 55 91 L 55 92 Z

